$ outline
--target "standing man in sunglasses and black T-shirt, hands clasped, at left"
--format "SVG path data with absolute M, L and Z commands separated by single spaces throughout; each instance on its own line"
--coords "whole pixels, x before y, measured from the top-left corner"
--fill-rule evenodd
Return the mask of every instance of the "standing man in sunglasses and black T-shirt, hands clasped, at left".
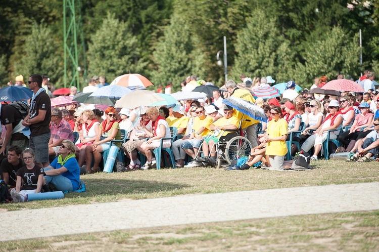
M 35 152 L 36 164 L 46 167 L 49 165 L 51 101 L 42 88 L 41 75 L 30 75 L 28 85 L 34 94 L 30 100 L 29 114 L 22 121 L 22 125 L 30 129 L 29 148 Z

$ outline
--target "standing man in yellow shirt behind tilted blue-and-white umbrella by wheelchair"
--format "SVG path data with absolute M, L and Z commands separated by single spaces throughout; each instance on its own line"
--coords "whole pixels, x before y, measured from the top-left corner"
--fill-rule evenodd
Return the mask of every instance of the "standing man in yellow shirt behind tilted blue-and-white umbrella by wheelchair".
M 252 96 L 252 94 L 250 94 L 250 92 L 247 90 L 239 89 L 233 80 L 228 80 L 225 84 L 225 87 L 226 87 L 227 92 L 230 94 L 230 96 L 240 98 L 245 101 L 249 101 L 251 103 L 255 103 L 255 99 Z M 242 121 L 241 128 L 243 132 L 246 131 L 246 135 L 247 135 L 246 137 L 249 139 L 252 147 L 254 148 L 258 146 L 256 126 L 259 121 L 235 109 L 234 109 L 234 114 L 239 120 L 241 119 L 250 120 L 250 121 Z

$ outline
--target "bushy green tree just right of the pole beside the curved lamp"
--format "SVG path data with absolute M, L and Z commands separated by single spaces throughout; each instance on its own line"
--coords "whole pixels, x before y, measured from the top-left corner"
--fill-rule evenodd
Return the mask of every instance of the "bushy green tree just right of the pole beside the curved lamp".
M 280 35 L 275 17 L 268 17 L 260 9 L 252 13 L 247 27 L 238 33 L 235 50 L 238 56 L 232 70 L 234 79 L 241 73 L 252 77 L 271 75 L 279 82 L 291 77 L 293 53 L 289 41 Z

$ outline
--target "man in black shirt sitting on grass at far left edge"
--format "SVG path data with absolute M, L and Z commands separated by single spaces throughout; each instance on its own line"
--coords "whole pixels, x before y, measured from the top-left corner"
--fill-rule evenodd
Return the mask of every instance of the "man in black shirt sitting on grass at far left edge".
M 21 160 L 22 150 L 18 146 L 11 146 L 8 149 L 8 158 L 5 158 L 0 165 L 0 172 L 3 173 L 4 182 L 11 188 L 16 187 L 17 171 L 24 166 Z

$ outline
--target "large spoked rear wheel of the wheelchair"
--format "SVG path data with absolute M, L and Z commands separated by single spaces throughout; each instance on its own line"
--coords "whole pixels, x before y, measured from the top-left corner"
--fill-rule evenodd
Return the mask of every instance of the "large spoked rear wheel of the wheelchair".
M 252 145 L 246 137 L 233 137 L 225 148 L 226 161 L 231 164 L 233 159 L 237 159 L 241 156 L 249 156 L 251 149 Z

